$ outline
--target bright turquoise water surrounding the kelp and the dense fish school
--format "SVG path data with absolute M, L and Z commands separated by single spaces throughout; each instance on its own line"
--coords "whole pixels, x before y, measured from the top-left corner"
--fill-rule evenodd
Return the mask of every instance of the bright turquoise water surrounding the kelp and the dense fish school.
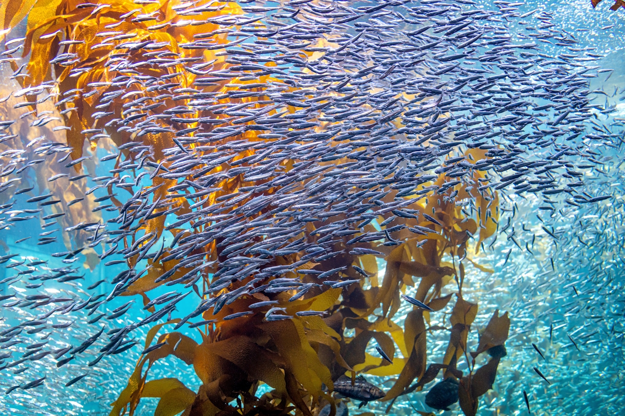
M 351 7 L 359 7 L 356 2 L 349 3 Z M 468 300 L 479 300 L 479 311 L 469 333 L 469 350 L 476 349 L 479 334 L 486 327 L 491 315 L 495 310 L 507 311 L 511 317 L 509 337 L 506 342 L 507 356 L 504 357 L 497 370 L 497 378 L 489 390 L 480 399 L 479 415 L 521 415 L 526 414 L 527 408 L 523 398 L 523 390 L 527 392 L 532 414 L 539 415 L 612 415 L 619 412 L 625 405 L 625 385 L 622 373 L 622 334 L 624 325 L 622 290 L 625 282 L 622 279 L 622 248 L 625 242 L 625 230 L 622 226 L 623 202 L 625 184 L 622 167 L 623 121 L 625 121 L 625 52 L 622 39 L 625 37 L 624 13 L 625 9 L 612 12 L 608 9 L 611 4 L 608 0 L 601 2 L 597 9 L 592 9 L 590 2 L 525 2 L 517 4 L 517 13 L 538 9 L 536 14 L 524 19 L 526 24 L 518 24 L 519 18 L 509 17 L 507 33 L 511 34 L 519 42 L 529 42 L 534 39 L 526 35 L 524 30 L 527 26 L 537 26 L 539 22 L 534 18 L 539 12 L 548 12 L 554 27 L 563 29 L 574 36 L 578 44 L 576 47 L 589 48 L 597 57 L 592 61 L 579 62 L 580 65 L 597 66 L 601 69 L 614 69 L 613 72 L 602 72 L 596 78 L 590 80 L 589 89 L 605 94 L 597 93 L 592 96 L 592 104 L 602 106 L 611 111 L 595 111 L 596 117 L 590 119 L 594 126 L 607 126 L 615 133 L 617 139 L 612 141 L 612 146 L 606 146 L 601 141 L 575 142 L 579 146 L 586 146 L 594 153 L 594 159 L 602 164 L 591 171 L 584 173 L 586 185 L 584 190 L 591 196 L 611 195 L 613 199 L 601 201 L 597 204 L 582 205 L 581 207 L 567 206 L 562 204 L 553 210 L 545 210 L 544 201 L 539 194 L 516 195 L 513 192 L 501 192 L 501 209 L 506 214 L 499 217 L 499 230 L 497 239 L 488 239 L 484 245 L 488 248 L 480 257 L 476 257 L 485 267 L 493 270 L 492 273 L 482 272 L 476 267 L 467 266 L 467 279 L 463 294 Z M 270 2 L 269 4 L 274 4 Z M 479 2 L 475 7 L 481 9 L 493 9 L 501 7 L 502 2 Z M 401 9 L 399 9 L 401 10 Z M 504 24 L 504 21 L 501 22 Z M 614 25 L 612 27 L 609 27 Z M 607 27 L 607 28 L 606 28 Z M 19 29 L 19 27 L 17 27 Z M 16 30 L 17 30 L 16 29 Z M 545 29 L 548 31 L 550 27 Z M 520 36 L 519 36 L 520 35 Z M 541 53 L 549 57 L 562 54 L 564 47 L 554 42 L 541 42 Z M 570 52 L 570 51 L 569 51 Z M 566 53 L 566 52 L 564 52 Z M 285 65 L 283 69 L 295 70 L 294 67 Z M 13 70 L 6 64 L 2 64 L 4 75 L 9 76 Z M 18 91 L 21 87 L 12 80 L 2 91 L 6 96 L 9 91 Z M 15 104 L 16 98 L 8 101 Z M 12 109 L 9 109 L 12 111 Z M 54 109 L 52 110 L 54 111 Z M 12 112 L 3 115 L 5 119 L 15 118 L 19 114 Z M 54 115 L 54 114 L 53 114 Z M 30 121 L 30 119 L 29 119 Z M 51 122 L 50 126 L 61 126 L 59 120 Z M 589 121 L 585 125 L 588 132 L 593 132 L 593 124 Z M 597 127 L 597 128 L 599 128 Z M 606 128 L 607 128 L 606 127 Z M 14 129 L 14 127 L 11 127 Z M 32 139 L 31 132 L 27 127 L 14 129 L 20 135 L 22 147 L 25 150 L 26 160 L 34 159 L 36 154 L 29 151 L 37 145 L 26 147 Z M 596 132 L 597 129 L 594 129 Z M 5 131 L 6 132 L 6 131 Z M 46 130 L 51 134 L 52 127 Z M 31 137 L 32 136 L 32 137 Z M 620 137 L 620 139 L 619 139 Z M 620 142 L 619 142 L 620 141 Z M 11 150 L 11 144 L 3 143 L 2 151 Z M 5 149 L 6 147 L 6 149 Z M 115 161 L 99 162 L 98 159 L 108 154 L 117 152 L 112 141 L 101 140 L 97 146 L 89 147 L 86 142 L 84 156 L 89 157 L 83 166 L 89 177 L 81 179 L 82 189 L 93 188 L 102 181 L 93 181 L 94 177 L 109 176 L 111 169 L 116 169 Z M 60 153 L 59 153 L 60 154 Z M 47 156 L 46 156 L 47 157 Z M 57 160 L 60 156 L 56 156 Z M 69 161 L 70 159 L 68 159 Z M 54 161 L 54 164 L 57 162 Z M 38 168 L 37 168 L 38 169 Z M 141 172 L 152 172 L 147 167 L 134 172 L 134 181 Z M 123 260 L 123 254 L 113 254 L 105 260 L 97 262 L 94 256 L 102 254 L 109 249 L 110 245 L 103 243 L 94 247 L 95 253 L 80 253 L 66 262 L 63 255 L 55 257 L 53 254 L 68 252 L 73 249 L 88 245 L 88 237 L 93 237 L 104 224 L 119 215 L 112 205 L 109 209 L 99 209 L 91 212 L 92 207 L 105 206 L 110 201 L 92 202 L 93 206 L 83 211 L 71 211 L 72 217 L 66 216 L 59 220 L 58 224 L 46 227 L 43 215 L 56 212 L 49 206 L 43 208 L 41 214 L 29 214 L 24 212 L 32 209 L 32 204 L 25 202 L 26 198 L 10 196 L 9 193 L 16 189 L 34 186 L 28 192 L 27 197 L 46 194 L 48 191 L 59 192 L 59 189 L 69 186 L 67 179 L 61 178 L 56 181 L 46 181 L 47 171 L 26 169 L 20 174 L 2 177 L 2 179 L 17 179 L 14 187 L 0 194 L 0 204 L 9 204 L 16 201 L 10 208 L 4 209 L 4 219 L 0 230 L 0 255 L 17 254 L 16 257 L 0 266 L 0 295 L 16 293 L 17 297 L 41 294 L 50 297 L 71 297 L 72 299 L 87 300 L 89 297 L 103 295 L 107 297 L 115 285 L 111 283 L 115 276 L 128 270 L 125 263 L 104 266 L 104 262 Z M 75 173 L 73 173 L 75 174 Z M 41 176 L 46 175 L 46 176 Z M 105 180 L 106 181 L 106 180 Z M 138 185 L 150 186 L 148 176 L 143 176 Z M 4 183 L 4 181 L 3 181 Z M 60 185 L 59 185 L 60 184 Z M 61 188 L 59 188 L 60 186 Z M 117 198 L 122 203 L 131 198 L 132 192 L 119 188 Z M 103 197 L 108 194 L 106 189 L 98 189 L 93 192 L 94 197 Z M 64 201 L 66 203 L 68 201 Z M 76 204 L 82 207 L 83 203 Z M 11 213 L 10 210 L 21 211 Z M 91 214 L 88 213 L 91 212 Z M 69 212 L 69 211 L 68 211 Z M 85 214 L 87 213 L 87 214 Z M 513 213 L 513 214 L 512 214 Z M 78 214 L 84 214 L 82 217 Z M 538 215 L 537 215 L 538 214 Z M 8 222 L 11 215 L 38 215 L 31 219 Z M 508 218 L 510 220 L 508 220 Z M 178 220 L 176 215 L 168 215 L 165 226 L 174 224 Z M 54 221 L 49 219 L 48 221 Z M 69 227 L 78 222 L 91 222 L 87 229 L 78 233 Z M 504 229 L 504 225 L 506 229 Z M 547 224 L 548 223 L 548 224 Z M 101 224 L 101 225 L 99 225 Z M 187 225 L 183 225 L 188 226 Z M 557 235 L 557 240 L 552 239 L 546 232 L 546 227 Z M 50 234 L 56 240 L 49 244 L 37 245 L 37 239 L 42 232 L 51 230 Z M 514 230 L 517 234 L 513 240 Z M 521 232 L 524 232 L 524 234 Z M 521 237 L 519 237 L 521 235 Z M 534 236 L 532 239 L 532 235 Z M 168 247 L 173 242 L 173 236 L 164 233 L 164 245 Z M 512 237 L 511 237 L 512 236 Z M 30 237 L 28 240 L 16 243 L 17 240 Z M 110 236 L 109 236 L 110 237 Z M 93 239 L 91 240 L 93 241 Z M 531 242 L 531 244 L 530 244 Z M 517 244 L 518 243 L 518 244 Z M 527 245 L 526 245 L 527 243 Z M 157 250 L 159 244 L 154 246 Z M 532 251 L 529 251 L 531 249 Z M 43 262 L 34 265 L 36 269 L 29 274 L 16 275 L 14 270 L 27 271 L 27 265 L 9 267 L 11 264 L 25 261 Z M 90 266 L 91 264 L 91 266 Z M 378 276 L 382 279 L 386 262 L 377 259 L 379 269 Z M 31 284 L 24 276 L 34 274 L 53 274 L 51 269 L 69 267 L 76 269 L 72 275 L 83 275 L 80 279 L 69 282 L 58 282 L 55 279 L 33 280 L 34 284 L 42 283 L 39 287 L 26 287 Z M 136 270 L 148 267 L 146 260 L 136 265 Z M 11 279 L 16 275 L 16 279 Z M 19 278 L 18 278 L 19 277 Z M 212 277 L 212 276 L 211 276 Z M 94 289 L 89 286 L 104 280 L 103 284 Z M 181 288 L 176 288 L 183 290 Z M 171 287 L 161 286 L 149 292 L 150 299 L 166 294 Z M 190 289 L 184 289 L 184 292 Z M 406 289 L 407 294 L 414 295 L 412 287 Z M 189 299 L 191 299 L 189 297 Z M 3 300 L 3 304 L 11 303 L 13 299 Z M 102 317 L 97 323 L 88 324 L 99 314 L 111 315 L 114 310 L 126 302 L 132 301 L 129 312 L 116 319 Z M 177 305 L 173 317 L 184 317 L 196 309 L 197 299 L 181 302 Z M 404 319 L 412 305 L 402 304 L 397 311 L 394 322 L 400 327 L 404 326 Z M 27 320 L 39 319 L 36 316 L 41 310 L 32 310 L 28 306 L 2 307 L 0 310 L 0 329 L 7 329 L 14 325 L 22 324 Z M 451 314 L 451 304 L 443 310 L 442 314 L 432 316 L 429 325 L 447 325 Z M 79 345 L 87 337 L 96 334 L 102 327 L 125 327 L 144 319 L 148 315 L 143 309 L 143 300 L 140 296 L 125 297 L 117 296 L 100 307 L 96 314 L 88 315 L 87 310 L 78 310 L 67 314 L 55 314 L 49 324 L 63 324 L 73 321 L 73 325 L 66 329 L 53 329 L 46 324 L 46 329 L 32 335 L 21 335 L 22 344 L 11 345 L 2 348 L 4 354 L 9 357 L 4 359 L 3 365 L 8 365 L 11 360 L 27 351 L 28 342 L 43 342 L 49 340 L 55 349 L 63 348 L 68 344 Z M 434 314 L 432 314 L 434 315 Z M 163 319 L 160 321 L 164 322 Z M 52 355 L 36 361 L 26 361 L 14 367 L 6 367 L 1 371 L 0 386 L 3 390 L 15 385 L 24 385 L 39 377 L 46 376 L 42 387 L 27 390 L 14 390 L 11 394 L 0 395 L 0 409 L 6 414 L 36 414 L 42 415 L 104 415 L 110 411 L 111 403 L 124 389 L 131 376 L 134 365 L 141 358 L 144 349 L 144 339 L 150 325 L 145 325 L 134 330 L 131 338 L 138 342 L 138 346 L 126 350 L 121 354 L 106 355 L 98 364 L 89 365 L 99 357 L 98 350 L 104 347 L 108 340 L 98 339 L 93 347 L 83 355 L 77 357 L 71 364 L 58 368 L 58 360 L 52 359 Z M 183 334 L 201 342 L 201 337 L 196 329 L 182 327 Z M 346 336 L 353 335 L 346 330 Z M 441 362 L 445 353 L 448 337 L 446 334 L 431 335 L 428 338 L 427 354 L 428 363 Z M 6 341 L 10 343 L 10 340 Z M 532 347 L 536 344 L 545 355 L 542 359 Z M 5 344 L 6 345 L 6 344 Z M 367 347 L 367 352 L 377 357 L 374 342 Z M 54 355 L 54 354 L 53 354 Z M 477 359 L 477 365 L 486 364 L 487 357 L 482 354 Z M 460 359 L 457 363 L 459 370 L 467 372 L 470 363 L 467 359 Z M 551 384 L 547 384 L 539 378 L 534 371 L 537 367 L 542 371 Z M 19 370 L 23 372 L 19 372 Z M 17 372 L 17 374 L 16 374 Z M 65 384 L 78 375 L 88 375 L 70 387 Z M 173 357 L 161 359 L 150 370 L 150 379 L 176 377 L 194 392 L 197 392 L 201 380 L 197 377 L 191 366 L 181 365 L 181 362 Z M 396 381 L 395 377 L 379 377 L 367 375 L 367 380 L 372 384 L 388 390 Z M 426 385 L 421 392 L 404 395 L 387 409 L 388 402 L 370 402 L 367 407 L 357 410 L 357 401 L 349 405 L 351 414 L 361 412 L 373 412 L 376 415 L 412 415 L 416 410 L 431 412 L 424 405 L 424 397 L 428 389 L 434 383 Z M 261 384 L 256 392 L 257 397 L 267 392 L 269 387 Z M 144 398 L 141 400 L 136 415 L 154 414 L 158 399 Z M 439 412 L 440 413 L 440 412 Z M 444 415 L 462 414 L 457 404 L 451 410 L 444 411 Z

